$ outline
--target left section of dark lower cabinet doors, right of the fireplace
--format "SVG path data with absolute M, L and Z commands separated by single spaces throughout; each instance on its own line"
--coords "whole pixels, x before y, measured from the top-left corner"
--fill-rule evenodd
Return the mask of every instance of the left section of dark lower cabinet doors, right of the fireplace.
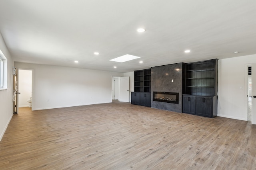
M 183 112 L 196 114 L 196 96 L 183 96 Z

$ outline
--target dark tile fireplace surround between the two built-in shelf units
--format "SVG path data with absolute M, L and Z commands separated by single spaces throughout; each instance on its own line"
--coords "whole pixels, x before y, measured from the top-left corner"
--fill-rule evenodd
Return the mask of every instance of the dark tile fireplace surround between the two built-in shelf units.
M 152 108 L 182 113 L 181 101 L 182 90 L 184 90 L 184 81 L 182 81 L 184 71 L 182 68 L 184 66 L 184 63 L 177 63 L 151 68 Z

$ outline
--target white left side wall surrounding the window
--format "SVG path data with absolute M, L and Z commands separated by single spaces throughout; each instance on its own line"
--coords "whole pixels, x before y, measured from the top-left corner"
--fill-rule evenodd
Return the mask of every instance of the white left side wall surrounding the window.
M 7 59 L 7 90 L 0 90 L 0 141 L 13 115 L 13 76 L 12 68 L 14 62 L 0 34 L 0 49 Z

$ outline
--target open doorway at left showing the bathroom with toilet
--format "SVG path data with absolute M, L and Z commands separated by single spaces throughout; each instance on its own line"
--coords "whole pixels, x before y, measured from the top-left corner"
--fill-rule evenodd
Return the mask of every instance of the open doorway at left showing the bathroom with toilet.
M 32 78 L 33 70 L 31 69 L 18 69 L 18 107 L 31 107 L 33 106 L 32 98 Z

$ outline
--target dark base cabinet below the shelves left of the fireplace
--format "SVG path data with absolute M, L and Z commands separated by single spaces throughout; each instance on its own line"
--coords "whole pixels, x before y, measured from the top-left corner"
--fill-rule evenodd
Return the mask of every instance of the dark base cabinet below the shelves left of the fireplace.
M 151 107 L 151 93 L 147 92 L 131 92 L 131 104 Z

